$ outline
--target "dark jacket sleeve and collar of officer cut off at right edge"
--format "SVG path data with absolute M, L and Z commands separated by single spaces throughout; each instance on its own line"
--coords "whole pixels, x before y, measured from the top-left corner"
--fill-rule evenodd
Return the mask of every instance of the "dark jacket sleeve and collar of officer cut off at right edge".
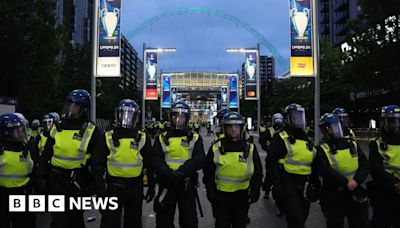
M 400 135 L 387 137 L 383 134 L 382 140 L 389 145 L 400 145 Z M 383 168 L 383 157 L 378 151 L 378 146 L 375 140 L 371 141 L 369 144 L 369 166 L 372 179 L 378 187 L 387 190 L 395 190 L 394 185 L 399 183 L 400 180 L 386 172 Z

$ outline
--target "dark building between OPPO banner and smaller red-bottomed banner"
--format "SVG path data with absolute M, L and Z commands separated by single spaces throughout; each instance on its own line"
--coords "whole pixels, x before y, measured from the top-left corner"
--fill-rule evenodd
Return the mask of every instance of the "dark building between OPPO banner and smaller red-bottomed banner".
M 122 35 L 121 39 L 121 82 L 120 87 L 136 98 L 142 96 L 143 91 L 143 61 L 139 59 L 137 51 Z

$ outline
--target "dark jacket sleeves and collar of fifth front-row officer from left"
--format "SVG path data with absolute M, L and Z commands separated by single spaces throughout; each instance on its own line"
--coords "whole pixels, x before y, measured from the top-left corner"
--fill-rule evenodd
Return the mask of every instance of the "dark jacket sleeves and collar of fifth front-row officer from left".
M 229 151 L 244 151 L 246 141 L 228 141 L 226 138 L 222 138 L 221 145 L 224 148 L 224 151 L 229 153 Z M 217 142 L 217 141 L 216 141 Z M 243 149 L 239 149 L 243 148 Z M 260 191 L 260 187 L 262 185 L 262 165 L 261 160 L 257 152 L 257 148 L 254 146 L 253 151 L 253 164 L 254 164 L 254 174 L 250 180 L 249 188 L 252 191 Z M 217 185 L 215 183 L 215 170 L 216 166 L 214 163 L 214 152 L 212 151 L 212 145 L 208 150 L 207 157 L 206 157 L 206 165 L 204 167 L 204 178 L 203 182 L 206 185 L 207 191 L 216 191 Z

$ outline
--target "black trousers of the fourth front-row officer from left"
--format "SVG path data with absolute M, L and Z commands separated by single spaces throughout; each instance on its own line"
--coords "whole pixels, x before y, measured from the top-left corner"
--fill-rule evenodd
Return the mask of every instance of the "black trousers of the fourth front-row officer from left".
M 160 194 L 167 191 L 164 199 L 160 202 Z M 174 228 L 174 217 L 176 205 L 179 210 L 179 226 L 181 228 L 197 228 L 197 212 L 194 187 L 185 190 L 182 188 L 169 188 L 160 191 L 154 200 L 154 211 L 156 212 L 156 228 Z

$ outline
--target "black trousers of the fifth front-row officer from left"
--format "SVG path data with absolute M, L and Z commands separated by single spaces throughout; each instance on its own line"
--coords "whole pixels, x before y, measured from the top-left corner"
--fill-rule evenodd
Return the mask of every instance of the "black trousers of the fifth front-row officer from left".
M 216 228 L 245 228 L 249 209 L 247 190 L 236 192 L 217 191 Z

